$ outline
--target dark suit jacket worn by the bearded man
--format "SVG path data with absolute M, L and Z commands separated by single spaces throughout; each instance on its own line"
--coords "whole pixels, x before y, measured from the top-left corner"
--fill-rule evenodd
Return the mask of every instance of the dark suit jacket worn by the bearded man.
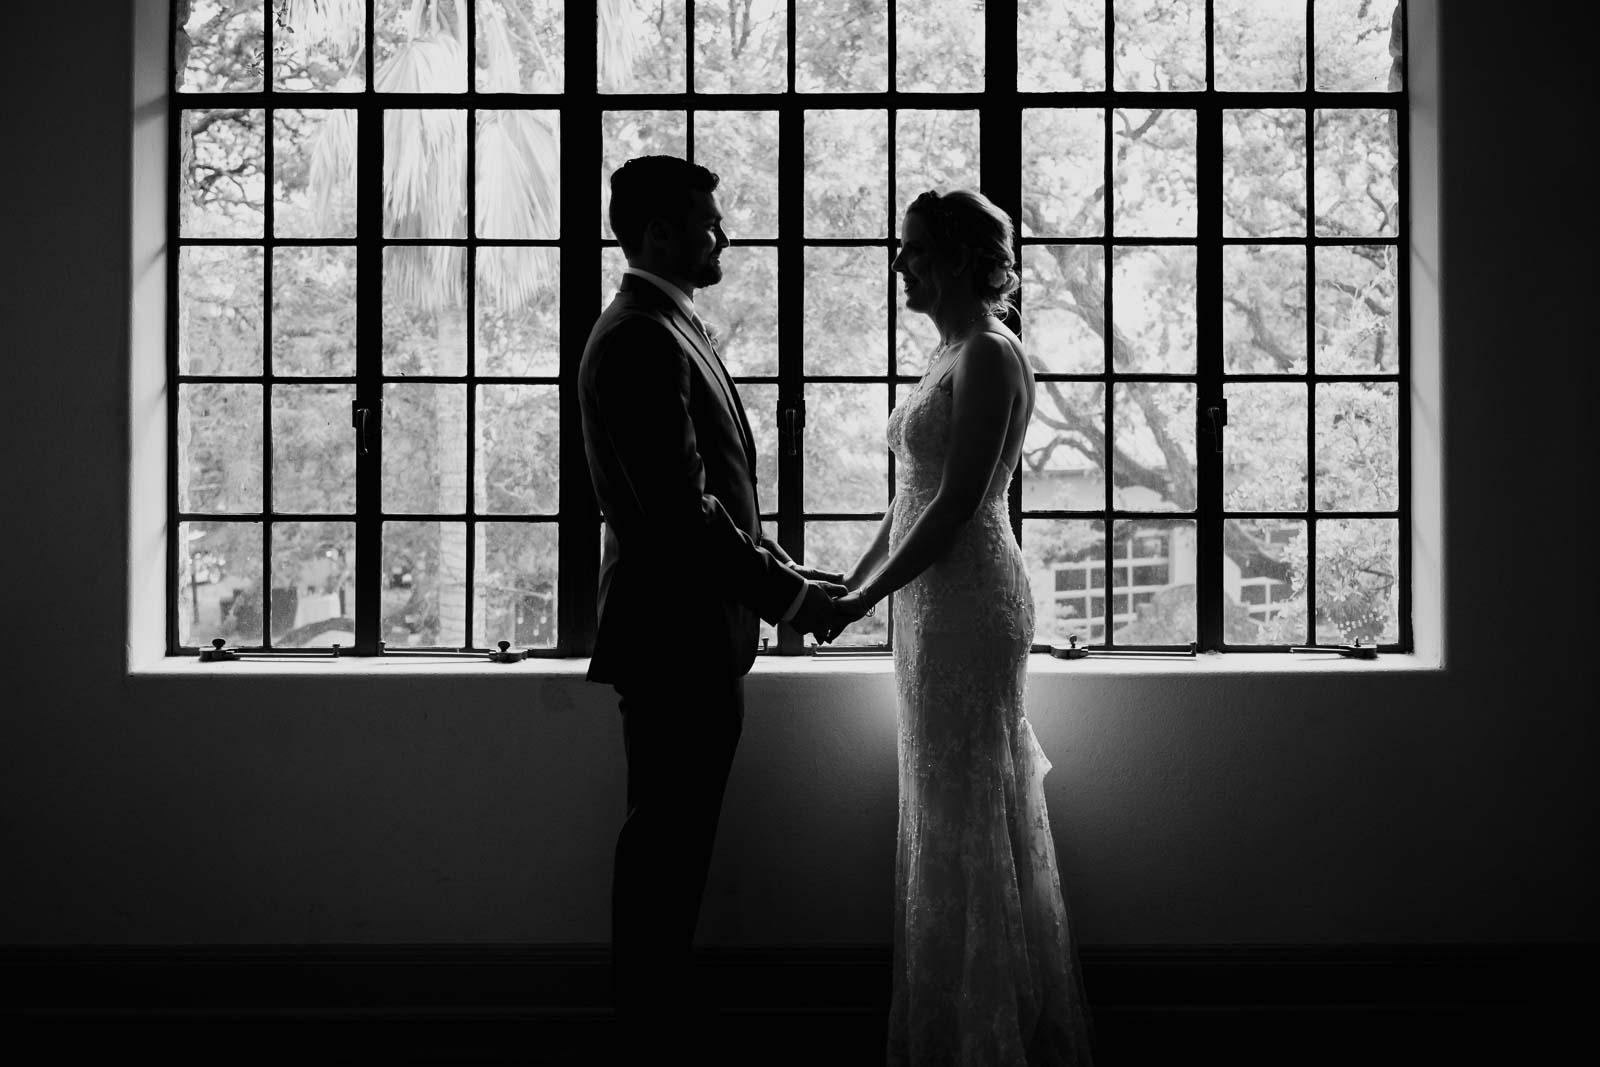
M 624 275 L 578 371 L 605 542 L 589 680 L 742 675 L 757 616 L 803 579 L 778 561 L 755 496 L 755 442 L 733 379 L 659 286 Z

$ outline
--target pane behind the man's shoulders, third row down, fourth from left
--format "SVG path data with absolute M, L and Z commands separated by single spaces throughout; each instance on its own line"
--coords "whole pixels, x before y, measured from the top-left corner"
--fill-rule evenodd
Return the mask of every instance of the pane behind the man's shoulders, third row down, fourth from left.
M 538 378 L 560 373 L 560 251 L 477 250 L 478 374 Z

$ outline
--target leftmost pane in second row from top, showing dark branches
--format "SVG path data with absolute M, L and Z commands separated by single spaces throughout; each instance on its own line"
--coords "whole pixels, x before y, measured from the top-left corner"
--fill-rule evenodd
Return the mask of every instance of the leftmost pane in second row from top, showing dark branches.
M 261 237 L 266 219 L 266 126 L 259 107 L 186 110 L 178 194 L 182 237 Z

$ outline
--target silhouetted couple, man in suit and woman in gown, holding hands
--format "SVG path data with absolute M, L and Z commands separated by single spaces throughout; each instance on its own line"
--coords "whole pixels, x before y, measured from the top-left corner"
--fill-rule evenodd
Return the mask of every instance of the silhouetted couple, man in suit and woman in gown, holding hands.
M 760 619 L 830 641 L 893 597 L 886 1062 L 1088 1064 L 1045 809 L 1050 761 L 1024 717 L 1034 598 L 1006 488 L 1034 374 L 1002 322 L 1019 283 L 1011 222 L 966 190 L 925 192 L 907 210 L 893 269 L 939 347 L 890 416 L 888 515 L 848 573 L 824 571 L 762 531 L 755 442 L 694 312 L 728 248 L 717 184 L 669 155 L 611 174 L 610 221 L 629 266 L 579 370 L 584 451 L 606 520 L 589 678 L 616 688 L 627 755 L 611 899 L 622 1048 L 629 1062 L 693 1057 L 706 1040 L 686 993 L 690 949 Z M 664 621 L 688 640 L 642 640 Z

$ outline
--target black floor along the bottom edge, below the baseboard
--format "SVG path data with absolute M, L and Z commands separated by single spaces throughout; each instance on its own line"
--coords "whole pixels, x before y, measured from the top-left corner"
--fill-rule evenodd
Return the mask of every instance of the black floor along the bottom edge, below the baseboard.
M 1147 1011 L 1094 1019 L 1099 1067 L 1227 1064 L 1318 1067 L 1590 1062 L 1594 1038 L 1526 1009 Z M 661 1062 L 819 1067 L 883 1062 L 872 1014 L 728 1016 L 718 1041 Z M 0 1019 L 10 1064 L 549 1064 L 616 1062 L 611 1024 L 592 1017 Z M 1576 1041 L 1576 1045 L 1573 1045 Z

